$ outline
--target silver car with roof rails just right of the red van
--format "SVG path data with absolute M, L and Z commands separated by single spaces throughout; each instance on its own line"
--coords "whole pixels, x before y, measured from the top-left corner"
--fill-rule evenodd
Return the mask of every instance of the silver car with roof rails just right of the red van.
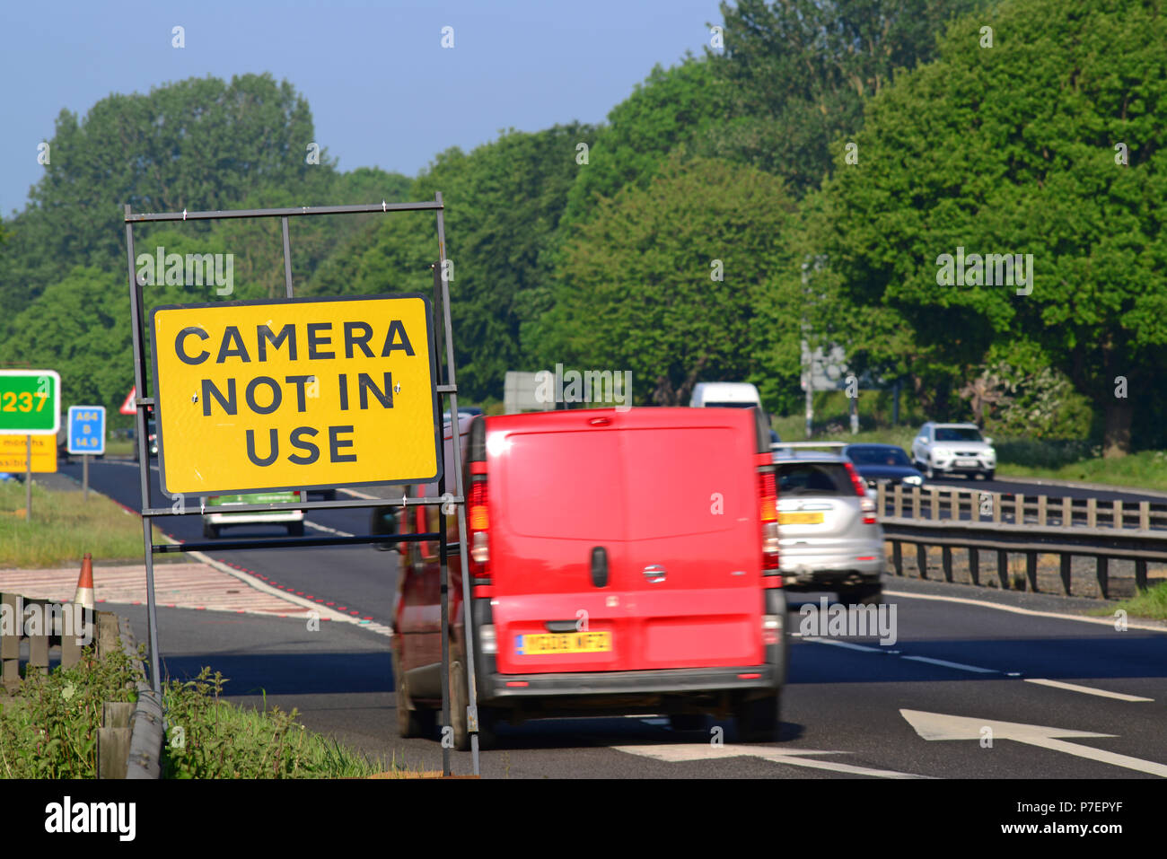
M 875 502 L 846 456 L 809 447 L 823 445 L 774 446 L 782 584 L 833 591 L 847 605 L 878 605 L 886 560 Z

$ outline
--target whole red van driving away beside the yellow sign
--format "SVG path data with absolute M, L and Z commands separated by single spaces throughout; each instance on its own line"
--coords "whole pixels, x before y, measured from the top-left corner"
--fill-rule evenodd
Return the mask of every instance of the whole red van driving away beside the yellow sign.
M 460 430 L 483 743 L 498 719 L 643 712 L 668 713 L 682 729 L 707 713 L 736 717 L 742 740 L 777 739 L 787 606 L 757 410 L 478 415 Z M 447 425 L 447 461 L 449 434 Z M 413 508 L 401 530 L 433 532 L 438 515 Z M 448 528 L 457 540 L 456 516 Z M 400 544 L 403 736 L 432 731 L 441 707 L 436 549 Z M 450 720 L 464 749 L 456 551 L 449 573 Z

